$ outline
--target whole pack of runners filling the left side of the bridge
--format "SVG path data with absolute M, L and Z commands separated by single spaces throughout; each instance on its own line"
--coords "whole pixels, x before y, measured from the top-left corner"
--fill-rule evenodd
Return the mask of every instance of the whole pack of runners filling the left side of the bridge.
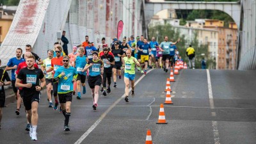
M 99 92 L 104 96 L 111 93 L 111 77 L 113 77 L 113 87 L 117 88 L 116 79 L 122 79 L 121 70 L 124 69 L 125 102 L 129 102 L 129 86 L 131 82 L 131 96 L 134 97 L 134 82 L 136 69 L 143 70 L 147 74 L 148 65 L 150 68 L 159 68 L 162 65 L 167 72 L 169 62 L 173 66 L 173 57 L 177 54 L 174 47 L 177 42 L 168 42 L 168 37 L 164 37 L 164 42 L 160 45 L 152 38 L 148 42 L 143 35 L 131 36 L 129 42 L 123 38 L 123 42 L 113 38 L 113 43 L 106 44 L 102 38 L 102 44 L 93 45 L 89 37 L 85 36 L 85 42 L 81 45 L 73 46 L 70 54 L 65 54 L 58 42 L 54 43 L 54 49 L 47 51 L 47 58 L 42 60 L 37 54 L 31 52 L 31 45 L 26 45 L 26 52 L 22 55 L 22 49 L 17 48 L 16 56 L 8 61 L 5 70 L 0 70 L 0 124 L 2 109 L 4 107 L 4 87 L 12 84 L 13 92 L 17 98 L 16 115 L 20 115 L 20 107 L 23 101 L 26 109 L 28 124 L 26 131 L 29 131 L 31 140 L 37 140 L 36 127 L 38 123 L 38 103 L 40 94 L 46 86 L 49 108 L 58 110 L 65 117 L 64 130 L 70 131 L 68 121 L 71 115 L 70 107 L 72 95 L 77 99 L 81 97 L 81 87 L 83 94 L 86 93 L 86 77 L 92 92 L 94 110 L 98 107 Z M 174 45 L 174 46 L 173 46 Z M 1 65 L 1 60 L 0 60 Z M 38 65 L 41 68 L 38 68 Z M 12 77 L 8 76 L 8 70 L 12 70 Z M 108 82 L 108 85 L 107 85 Z M 102 88 L 100 88 L 102 86 Z M 77 94 L 76 94 L 77 93 Z M 52 95 L 54 102 L 52 102 Z M 53 104 L 54 103 L 54 104 Z M 0 125 L 1 129 L 1 125 Z

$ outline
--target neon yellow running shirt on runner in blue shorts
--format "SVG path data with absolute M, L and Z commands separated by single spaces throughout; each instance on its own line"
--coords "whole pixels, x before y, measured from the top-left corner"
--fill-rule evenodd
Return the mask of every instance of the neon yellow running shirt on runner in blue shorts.
M 135 60 L 135 62 L 138 63 L 138 60 L 136 58 L 134 58 L 133 56 L 131 56 L 131 58 L 124 57 L 124 63 L 125 63 L 124 72 L 125 73 L 135 74 L 136 63 L 134 63 L 133 60 Z

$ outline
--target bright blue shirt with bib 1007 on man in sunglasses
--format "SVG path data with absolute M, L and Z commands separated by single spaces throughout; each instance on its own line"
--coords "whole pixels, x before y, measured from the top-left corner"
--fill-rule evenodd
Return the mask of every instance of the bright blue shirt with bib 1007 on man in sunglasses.
M 58 93 L 68 93 L 68 92 L 73 92 L 73 79 L 74 77 L 77 76 L 77 71 L 76 68 L 74 67 L 68 67 L 65 68 L 63 66 L 59 67 L 54 74 L 54 78 L 58 77 L 61 72 L 65 72 L 65 76 L 62 76 L 59 79 L 58 82 Z

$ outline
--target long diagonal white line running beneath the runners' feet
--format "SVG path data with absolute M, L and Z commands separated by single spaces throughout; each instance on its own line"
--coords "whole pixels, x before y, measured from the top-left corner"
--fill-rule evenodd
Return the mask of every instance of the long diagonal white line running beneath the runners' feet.
M 148 70 L 147 74 L 149 72 L 151 72 L 153 69 L 151 70 Z M 142 75 L 135 83 L 134 83 L 134 86 L 136 86 L 140 81 L 141 79 L 143 79 L 143 77 L 145 77 L 146 75 Z M 129 92 L 131 92 L 131 88 L 129 88 Z M 108 115 L 109 111 L 111 111 L 115 106 L 116 104 L 118 104 L 118 102 L 120 102 L 120 100 L 123 100 L 125 97 L 125 93 L 124 95 L 122 95 L 122 97 L 120 97 L 119 99 L 117 99 L 104 113 L 102 113 L 102 115 L 100 116 L 100 118 L 98 120 L 96 120 L 96 122 L 86 131 L 84 132 L 84 134 L 74 143 L 74 144 L 79 144 L 81 143 L 92 131 L 93 129 L 95 129 L 95 127 L 97 127 L 100 122 L 103 120 L 103 118 L 105 118 L 106 115 Z

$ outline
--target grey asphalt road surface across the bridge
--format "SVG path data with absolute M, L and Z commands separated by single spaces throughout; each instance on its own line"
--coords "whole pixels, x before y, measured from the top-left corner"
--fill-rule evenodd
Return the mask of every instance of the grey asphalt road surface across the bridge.
M 153 143 L 255 143 L 255 71 L 209 70 L 209 84 L 207 70 L 181 70 L 171 83 L 173 105 L 164 105 L 168 124 L 157 125 L 169 74 L 160 69 L 149 72 L 138 81 L 129 103 L 121 98 L 124 79 L 118 79 L 111 94 L 100 93 L 97 111 L 86 86 L 81 100 L 73 97 L 69 132 L 63 131 L 63 115 L 48 108 L 43 93 L 36 142 L 25 131 L 24 111 L 16 116 L 16 104 L 8 104 L 3 109 L 0 143 L 145 143 L 147 129 Z M 136 80 L 141 76 L 136 74 Z

